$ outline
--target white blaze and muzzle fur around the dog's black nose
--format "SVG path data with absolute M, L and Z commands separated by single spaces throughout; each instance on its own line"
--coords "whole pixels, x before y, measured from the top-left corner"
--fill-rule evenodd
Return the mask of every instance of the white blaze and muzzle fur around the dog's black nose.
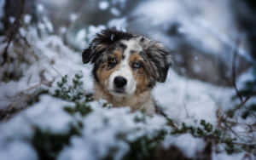
M 137 39 L 122 41 L 122 43 L 125 43 L 125 45 L 127 46 L 124 52 L 125 59 L 121 60 L 119 69 L 117 71 L 113 71 L 113 73 L 110 75 L 109 84 L 108 84 L 109 86 L 108 90 L 110 91 L 110 93 L 119 97 L 132 95 L 135 93 L 137 89 L 137 83 L 135 78 L 133 77 L 129 60 L 130 60 L 131 50 L 135 50 L 135 51 L 142 50 L 142 47 L 139 46 L 137 43 Z M 113 79 L 118 76 L 125 77 L 125 79 L 127 80 L 127 84 L 125 85 L 125 92 L 123 94 L 114 92 Z

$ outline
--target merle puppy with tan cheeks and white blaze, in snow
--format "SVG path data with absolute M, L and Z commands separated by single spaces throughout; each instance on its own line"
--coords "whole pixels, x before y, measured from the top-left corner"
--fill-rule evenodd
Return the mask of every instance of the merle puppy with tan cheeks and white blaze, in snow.
M 156 112 L 151 90 L 164 83 L 172 55 L 161 43 L 129 32 L 106 29 L 96 34 L 82 53 L 83 63 L 92 63 L 96 100 L 131 111 Z

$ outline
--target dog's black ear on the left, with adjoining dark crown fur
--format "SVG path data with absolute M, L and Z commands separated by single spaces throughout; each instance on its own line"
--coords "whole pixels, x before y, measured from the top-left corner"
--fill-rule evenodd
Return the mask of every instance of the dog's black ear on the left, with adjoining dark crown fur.
M 83 63 L 94 63 L 97 58 L 113 43 L 116 43 L 122 39 L 128 40 L 131 37 L 134 36 L 127 32 L 116 31 L 114 29 L 103 30 L 102 32 L 96 34 L 96 37 L 90 43 L 89 48 L 84 49 L 82 54 Z

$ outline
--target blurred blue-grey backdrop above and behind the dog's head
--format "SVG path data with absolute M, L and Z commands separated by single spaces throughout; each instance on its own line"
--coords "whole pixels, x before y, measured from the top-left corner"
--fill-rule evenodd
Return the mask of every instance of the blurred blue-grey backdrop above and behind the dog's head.
M 3 34 L 24 0 L 0 2 Z M 204 82 L 232 85 L 235 50 L 237 75 L 255 65 L 253 0 L 26 0 L 24 8 L 32 23 L 61 35 L 77 51 L 87 47 L 88 34 L 115 27 L 164 43 L 174 51 L 178 74 Z

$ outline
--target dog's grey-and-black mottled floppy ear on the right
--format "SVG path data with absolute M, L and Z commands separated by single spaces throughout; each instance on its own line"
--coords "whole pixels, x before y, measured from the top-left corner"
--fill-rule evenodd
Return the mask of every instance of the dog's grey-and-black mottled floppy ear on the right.
M 168 69 L 172 66 L 172 55 L 166 51 L 160 43 L 152 43 L 146 50 L 150 63 L 151 76 L 157 82 L 164 83 L 166 81 Z

